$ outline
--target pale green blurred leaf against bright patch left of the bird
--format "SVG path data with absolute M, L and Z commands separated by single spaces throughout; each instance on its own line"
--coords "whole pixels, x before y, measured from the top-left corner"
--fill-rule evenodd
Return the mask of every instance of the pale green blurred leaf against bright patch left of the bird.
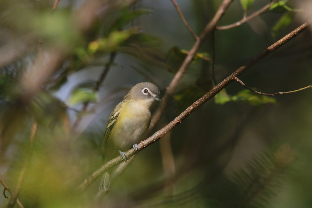
M 90 88 L 77 88 L 68 98 L 69 104 L 76 105 L 83 102 L 95 102 L 98 97 L 98 93 L 94 92 Z

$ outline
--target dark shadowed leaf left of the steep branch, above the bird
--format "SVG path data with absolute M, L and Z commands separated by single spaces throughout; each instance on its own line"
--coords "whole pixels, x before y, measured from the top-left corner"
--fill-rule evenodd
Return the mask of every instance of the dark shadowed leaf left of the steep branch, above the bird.
M 166 67 L 167 69 L 175 74 L 183 63 L 187 55 L 181 51 L 177 46 L 172 47 L 166 57 Z

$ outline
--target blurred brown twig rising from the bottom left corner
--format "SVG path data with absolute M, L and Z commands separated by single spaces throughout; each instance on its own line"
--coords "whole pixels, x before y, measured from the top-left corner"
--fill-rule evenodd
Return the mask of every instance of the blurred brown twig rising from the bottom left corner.
M 32 158 L 32 150 L 33 150 L 33 146 L 34 146 L 34 139 L 35 139 L 35 136 L 36 136 L 36 133 L 37 133 L 37 127 L 38 127 L 37 121 L 34 120 L 34 122 L 32 124 L 31 131 L 30 131 L 30 138 L 29 138 L 29 146 L 28 146 L 27 158 L 26 158 L 26 161 L 24 163 L 24 166 L 22 167 L 22 171 L 21 171 L 21 173 L 20 173 L 20 175 L 18 177 L 14 193 L 12 194 L 12 197 L 11 197 L 11 199 L 9 201 L 9 204 L 7 205 L 7 208 L 12 208 L 15 205 L 15 202 L 17 200 L 17 196 L 18 196 L 19 192 L 21 191 L 22 183 L 23 183 L 24 177 L 25 177 L 25 173 L 26 173 L 26 170 L 27 170 L 27 168 L 29 166 L 30 160 Z

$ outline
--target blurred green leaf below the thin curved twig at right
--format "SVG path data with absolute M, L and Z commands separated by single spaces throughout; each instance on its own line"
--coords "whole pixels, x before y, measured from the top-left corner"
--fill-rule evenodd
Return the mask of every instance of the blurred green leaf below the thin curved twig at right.
M 261 106 L 262 104 L 267 103 L 278 103 L 277 100 L 273 97 L 255 94 L 249 89 L 244 89 L 240 91 L 237 95 L 232 96 L 232 100 L 238 102 L 248 102 L 255 106 Z

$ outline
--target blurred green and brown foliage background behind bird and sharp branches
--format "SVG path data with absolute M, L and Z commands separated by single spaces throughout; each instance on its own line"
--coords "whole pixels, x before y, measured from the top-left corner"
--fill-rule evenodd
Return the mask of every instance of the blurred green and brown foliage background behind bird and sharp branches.
M 265 97 L 234 82 L 141 151 L 108 193 L 98 193 L 100 179 L 77 191 L 102 165 L 115 105 L 143 81 L 163 95 L 194 38 L 169 0 L 62 0 L 53 9 L 56 2 L 0 2 L 0 174 L 14 191 L 28 161 L 24 207 L 312 206 L 311 89 Z M 177 1 L 197 35 L 221 2 Z M 234 0 L 217 26 L 270 2 Z M 277 1 L 238 27 L 215 30 L 153 132 L 213 87 L 214 50 L 219 83 L 311 13 L 309 0 Z M 311 37 L 303 31 L 240 79 L 265 93 L 310 85 Z M 8 203 L 0 197 L 1 207 Z

